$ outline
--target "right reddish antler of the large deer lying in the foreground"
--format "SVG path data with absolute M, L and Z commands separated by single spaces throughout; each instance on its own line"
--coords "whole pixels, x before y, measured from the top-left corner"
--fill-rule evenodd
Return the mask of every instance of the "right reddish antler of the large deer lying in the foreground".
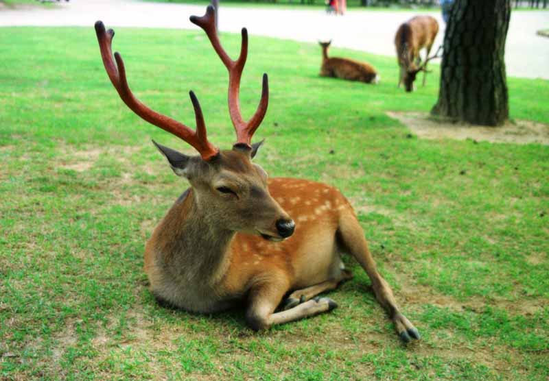
M 235 147 L 244 146 L 251 148 L 250 142 L 252 136 L 257 130 L 257 127 L 263 121 L 265 113 L 267 112 L 267 106 L 269 102 L 269 84 L 267 74 L 263 75 L 263 86 L 261 89 L 261 100 L 259 106 L 252 118 L 245 122 L 242 119 L 240 112 L 240 77 L 242 77 L 242 71 L 244 70 L 244 64 L 246 64 L 246 57 L 248 56 L 248 32 L 246 28 L 242 28 L 242 46 L 240 47 L 240 56 L 236 61 L 231 60 L 226 51 L 221 46 L 218 38 L 217 30 L 215 29 L 215 10 L 211 5 L 208 5 L 206 14 L 204 16 L 191 16 L 191 23 L 194 23 L 204 29 L 206 32 L 213 49 L 218 53 L 219 58 L 229 71 L 229 114 L 231 115 L 231 121 L 235 126 L 237 143 Z

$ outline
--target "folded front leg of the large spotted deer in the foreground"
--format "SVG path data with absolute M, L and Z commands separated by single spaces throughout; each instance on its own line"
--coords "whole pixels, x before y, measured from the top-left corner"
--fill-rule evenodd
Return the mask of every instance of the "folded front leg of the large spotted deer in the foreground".
M 274 312 L 287 291 L 288 282 L 254 286 L 250 291 L 250 304 L 246 311 L 248 326 L 253 330 L 263 330 L 274 324 L 289 323 L 328 312 L 338 306 L 333 300 L 323 297 L 311 299 L 285 311 Z

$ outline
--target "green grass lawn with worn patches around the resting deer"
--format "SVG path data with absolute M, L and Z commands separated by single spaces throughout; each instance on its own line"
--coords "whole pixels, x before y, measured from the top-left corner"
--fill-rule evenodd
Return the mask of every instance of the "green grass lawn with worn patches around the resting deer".
M 256 140 L 271 176 L 333 184 L 423 339 L 402 344 L 369 280 L 333 312 L 254 333 L 241 310 L 154 302 L 143 246 L 187 187 L 108 82 L 93 25 L 3 28 L 0 44 L 1 380 L 547 380 L 549 147 L 419 140 L 388 110 L 430 110 L 439 73 L 397 90 L 394 58 L 333 49 L 378 86 L 318 77 L 316 45 L 250 36 L 244 116 L 270 78 Z M 240 36 L 223 34 L 236 56 Z M 210 140 L 234 141 L 226 71 L 202 33 L 117 29 L 130 86 Z M 509 79 L 511 117 L 549 123 L 549 82 Z M 333 150 L 333 152 L 331 152 Z

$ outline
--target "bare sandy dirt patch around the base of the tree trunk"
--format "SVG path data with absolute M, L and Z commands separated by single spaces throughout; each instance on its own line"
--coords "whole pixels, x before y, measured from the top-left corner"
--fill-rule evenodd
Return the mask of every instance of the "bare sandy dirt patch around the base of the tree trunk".
M 491 143 L 549 145 L 549 125 L 531 121 L 507 122 L 502 127 L 439 121 L 423 112 L 387 112 L 408 127 L 419 138 L 439 140 L 477 140 Z

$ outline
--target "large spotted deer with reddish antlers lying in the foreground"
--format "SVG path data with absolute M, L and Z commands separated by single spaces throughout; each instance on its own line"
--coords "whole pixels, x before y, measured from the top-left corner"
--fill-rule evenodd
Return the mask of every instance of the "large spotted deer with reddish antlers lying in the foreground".
M 246 28 L 240 56 L 232 60 L 218 38 L 211 6 L 190 20 L 204 30 L 229 72 L 229 116 L 236 133 L 231 149 L 209 142 L 194 92 L 189 95 L 196 130 L 141 103 L 128 86 L 121 55 L 115 52 L 113 59 L 115 32 L 105 30 L 101 21 L 95 23 L 105 70 L 121 100 L 145 121 L 198 151 L 186 155 L 152 141 L 172 171 L 190 184 L 145 244 L 143 268 L 156 301 L 208 314 L 244 304 L 246 325 L 265 330 L 334 310 L 338 304 L 320 294 L 352 278 L 340 257 L 347 252 L 369 275 L 375 297 L 400 338 L 419 339 L 377 271 L 349 201 L 326 184 L 268 177 L 253 162 L 264 140 L 251 140 L 266 115 L 269 90 L 264 74 L 259 106 L 244 121 L 239 92 L 248 55 Z

